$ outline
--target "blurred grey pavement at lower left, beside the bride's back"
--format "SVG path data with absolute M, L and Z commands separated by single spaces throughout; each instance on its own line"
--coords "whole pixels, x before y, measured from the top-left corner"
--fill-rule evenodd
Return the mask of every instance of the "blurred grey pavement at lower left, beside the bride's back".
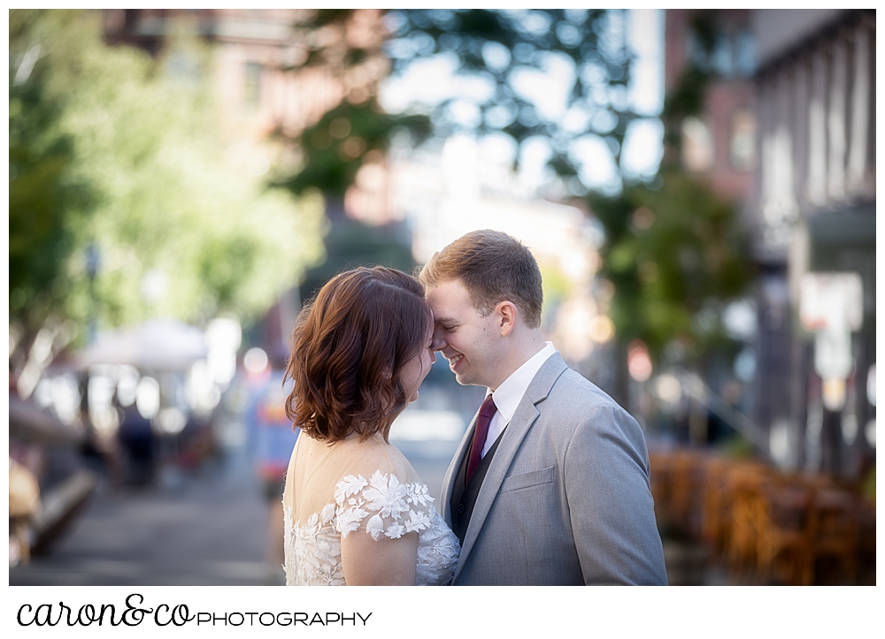
M 13 585 L 275 585 L 268 507 L 248 462 L 228 458 L 148 489 L 100 482 L 48 554 L 9 571 Z

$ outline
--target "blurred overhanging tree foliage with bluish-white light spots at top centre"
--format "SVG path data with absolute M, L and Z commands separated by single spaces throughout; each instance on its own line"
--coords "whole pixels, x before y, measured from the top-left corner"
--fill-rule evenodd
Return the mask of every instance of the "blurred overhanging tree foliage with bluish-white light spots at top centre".
M 604 10 L 406 9 L 388 11 L 386 34 L 350 37 L 358 10 L 319 10 L 298 27 L 308 43 L 302 66 L 322 66 L 344 78 L 350 93 L 335 115 L 297 138 L 304 152 L 302 173 L 289 182 L 296 192 L 320 179 L 340 194 L 366 153 L 387 148 L 397 128 L 446 137 L 468 130 L 479 135 L 504 133 L 517 145 L 541 137 L 550 142 L 550 167 L 562 176 L 576 174 L 571 145 L 582 136 L 609 142 L 615 161 L 627 126 L 635 118 L 627 99 L 631 54 L 623 37 L 623 15 Z M 320 35 L 318 35 L 320 34 Z M 325 34 L 325 35 L 322 35 Z M 457 116 L 458 97 L 434 105 L 413 105 L 407 113 L 385 114 L 378 105 L 380 75 L 370 72 L 389 61 L 396 76 L 433 57 L 454 61 L 458 74 L 480 80 L 488 90 L 477 98 L 474 121 Z M 520 80 L 546 73 L 554 65 L 569 70 L 564 114 L 539 109 Z M 360 85 L 358 78 L 373 78 Z M 429 109 L 429 110 L 428 110 Z M 333 122 L 350 121 L 350 151 L 335 139 Z M 341 144 L 348 143 L 342 139 Z M 518 162 L 518 156 L 517 156 Z

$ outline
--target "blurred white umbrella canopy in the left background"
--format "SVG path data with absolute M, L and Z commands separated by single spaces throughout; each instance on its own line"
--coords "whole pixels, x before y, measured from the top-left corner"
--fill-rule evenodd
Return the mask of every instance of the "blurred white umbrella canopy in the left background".
M 75 354 L 74 361 L 80 369 L 94 364 L 130 364 L 142 370 L 185 370 L 206 353 L 203 331 L 162 318 L 102 333 Z

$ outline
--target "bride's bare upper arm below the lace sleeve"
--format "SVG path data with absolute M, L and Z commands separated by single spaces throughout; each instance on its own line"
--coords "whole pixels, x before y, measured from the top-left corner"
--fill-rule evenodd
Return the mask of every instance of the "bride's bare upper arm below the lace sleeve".
M 341 561 L 349 586 L 414 586 L 418 533 L 375 541 L 364 530 L 342 537 Z

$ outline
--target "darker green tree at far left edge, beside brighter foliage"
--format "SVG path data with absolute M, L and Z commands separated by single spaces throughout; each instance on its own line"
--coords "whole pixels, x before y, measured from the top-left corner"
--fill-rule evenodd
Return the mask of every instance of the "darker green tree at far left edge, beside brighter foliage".
M 41 59 L 71 17 L 70 11 L 10 11 L 9 309 L 19 343 L 64 307 L 64 264 L 76 248 L 72 226 L 95 207 L 91 185 L 72 169 L 64 96 L 47 86 L 50 72 Z

